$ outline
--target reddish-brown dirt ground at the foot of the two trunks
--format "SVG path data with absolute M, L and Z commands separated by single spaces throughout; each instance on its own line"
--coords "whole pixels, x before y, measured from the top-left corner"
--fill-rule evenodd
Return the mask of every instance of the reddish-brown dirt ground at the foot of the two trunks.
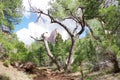
M 64 71 L 53 71 L 51 69 L 37 70 L 36 77 L 33 80 L 80 80 L 80 73 L 65 73 Z

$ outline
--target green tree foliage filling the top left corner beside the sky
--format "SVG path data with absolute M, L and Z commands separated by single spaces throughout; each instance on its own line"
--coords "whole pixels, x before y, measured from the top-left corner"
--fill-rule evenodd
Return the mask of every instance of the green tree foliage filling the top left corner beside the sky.
M 0 25 L 14 29 L 21 21 L 22 0 L 0 0 Z

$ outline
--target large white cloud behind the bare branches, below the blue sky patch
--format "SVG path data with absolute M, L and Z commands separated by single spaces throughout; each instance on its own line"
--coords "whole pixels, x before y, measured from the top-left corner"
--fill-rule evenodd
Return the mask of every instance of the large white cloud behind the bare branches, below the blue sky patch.
M 63 40 L 68 39 L 67 32 L 57 24 L 41 25 L 38 23 L 31 22 L 28 24 L 28 28 L 23 28 L 17 31 L 16 34 L 20 41 L 24 42 L 26 45 L 30 45 L 32 42 L 34 42 L 34 40 L 30 36 L 40 39 L 41 34 L 43 34 L 44 32 L 48 32 L 50 34 L 51 31 L 53 31 L 56 28 L 59 29 Z

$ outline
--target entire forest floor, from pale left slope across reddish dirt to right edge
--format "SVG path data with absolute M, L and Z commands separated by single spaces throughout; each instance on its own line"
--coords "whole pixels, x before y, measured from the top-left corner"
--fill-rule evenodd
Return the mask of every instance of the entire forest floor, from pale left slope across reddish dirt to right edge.
M 12 66 L 5 67 L 0 61 L 0 80 L 81 80 L 80 73 L 64 73 L 47 68 L 39 68 L 34 74 L 18 71 Z M 93 72 L 85 76 L 84 80 L 120 80 L 120 73 L 110 74 Z

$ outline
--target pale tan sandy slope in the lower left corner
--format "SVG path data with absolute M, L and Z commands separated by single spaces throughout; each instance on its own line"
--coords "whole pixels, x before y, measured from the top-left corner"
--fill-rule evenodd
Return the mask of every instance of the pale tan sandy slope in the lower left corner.
M 12 66 L 5 67 L 3 66 L 3 62 L 0 61 L 0 75 L 7 76 L 10 80 L 32 80 L 28 77 L 27 74 L 22 71 L 18 71 Z

